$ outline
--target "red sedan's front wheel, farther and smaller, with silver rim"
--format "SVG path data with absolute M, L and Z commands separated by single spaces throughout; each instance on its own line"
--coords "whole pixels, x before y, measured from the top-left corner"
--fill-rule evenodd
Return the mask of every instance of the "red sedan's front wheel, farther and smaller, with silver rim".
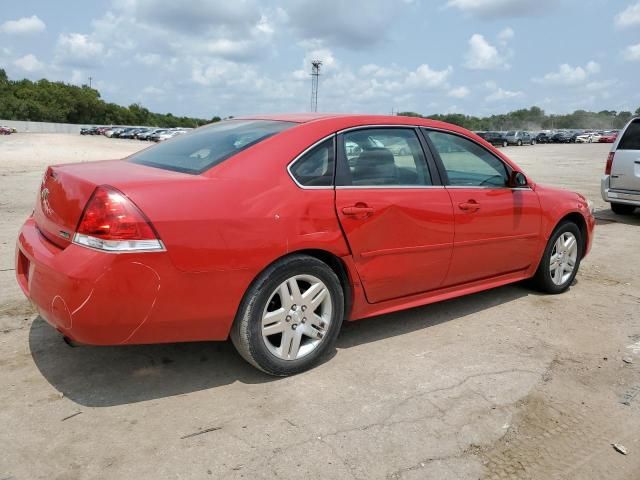
M 582 234 L 573 222 L 559 225 L 544 250 L 533 283 L 546 293 L 562 293 L 573 282 L 582 259 Z

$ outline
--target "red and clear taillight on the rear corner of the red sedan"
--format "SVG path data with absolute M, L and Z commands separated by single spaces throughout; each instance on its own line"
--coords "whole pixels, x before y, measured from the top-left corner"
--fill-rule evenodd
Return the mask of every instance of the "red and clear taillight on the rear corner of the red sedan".
M 164 250 L 149 219 L 113 187 L 95 189 L 82 213 L 73 242 L 109 252 Z

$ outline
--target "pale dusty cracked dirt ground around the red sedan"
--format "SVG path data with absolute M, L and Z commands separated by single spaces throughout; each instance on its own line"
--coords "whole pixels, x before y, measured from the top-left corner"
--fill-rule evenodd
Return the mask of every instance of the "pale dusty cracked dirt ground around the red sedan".
M 517 284 L 350 323 L 329 361 L 283 379 L 228 343 L 70 348 L 19 291 L 44 167 L 142 146 L 0 137 L 1 480 L 640 478 L 640 213 L 600 199 L 608 145 L 505 149 L 601 209 L 567 293 Z

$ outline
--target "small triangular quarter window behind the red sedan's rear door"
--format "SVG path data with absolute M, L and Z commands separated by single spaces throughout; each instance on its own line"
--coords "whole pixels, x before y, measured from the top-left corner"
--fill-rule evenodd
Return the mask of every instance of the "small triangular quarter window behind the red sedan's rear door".
M 293 178 L 303 187 L 333 186 L 334 138 L 315 146 L 291 165 Z

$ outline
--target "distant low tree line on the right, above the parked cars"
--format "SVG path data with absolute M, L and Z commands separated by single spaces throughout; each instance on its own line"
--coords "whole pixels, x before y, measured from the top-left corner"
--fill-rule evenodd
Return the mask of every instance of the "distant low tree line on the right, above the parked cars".
M 600 112 L 576 110 L 573 113 L 557 115 L 547 114 L 539 107 L 531 107 L 489 117 L 475 117 L 460 113 L 425 116 L 416 112 L 398 112 L 398 115 L 440 120 L 475 131 L 554 130 L 563 128 L 606 130 L 624 127 L 634 115 L 640 115 L 640 108 L 635 111 L 635 114 L 627 111 L 617 112 L 615 110 L 602 110 Z

